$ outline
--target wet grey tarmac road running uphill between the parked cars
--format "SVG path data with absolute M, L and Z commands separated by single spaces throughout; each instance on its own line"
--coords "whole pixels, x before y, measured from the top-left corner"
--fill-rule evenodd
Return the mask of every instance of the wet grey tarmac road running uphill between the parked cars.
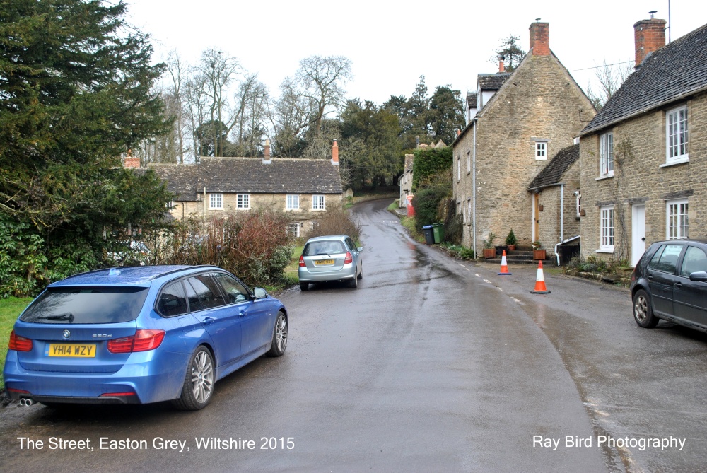
M 194 413 L 0 409 L 0 469 L 703 471 L 706 336 L 639 329 L 626 291 L 591 281 L 546 271 L 551 294 L 530 294 L 534 267 L 497 276 L 493 264 L 449 259 L 412 242 L 389 203 L 356 209 L 358 289 L 281 294 L 284 357 L 230 375 Z M 686 440 L 682 451 L 640 450 L 600 447 L 600 436 Z M 52 438 L 93 450 L 52 449 Z

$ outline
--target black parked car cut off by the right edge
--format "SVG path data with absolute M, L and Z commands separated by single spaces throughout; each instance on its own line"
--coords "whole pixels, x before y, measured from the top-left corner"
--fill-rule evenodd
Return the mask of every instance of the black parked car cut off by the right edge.
M 641 327 L 665 319 L 707 332 L 707 241 L 650 245 L 633 269 L 631 297 Z

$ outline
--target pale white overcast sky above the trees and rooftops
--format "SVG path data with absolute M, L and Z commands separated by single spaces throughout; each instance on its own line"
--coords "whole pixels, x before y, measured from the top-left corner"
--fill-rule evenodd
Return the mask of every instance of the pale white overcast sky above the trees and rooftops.
M 633 23 L 653 10 L 668 19 L 668 0 L 127 2 L 129 21 L 153 38 L 155 59 L 176 50 L 194 64 L 204 49 L 218 48 L 276 96 L 300 59 L 345 56 L 354 73 L 347 97 L 378 105 L 390 95 L 409 97 L 421 75 L 430 95 L 446 84 L 462 95 L 475 90 L 477 74 L 498 71 L 489 59 L 503 38 L 520 36 L 527 51 L 536 18 L 549 23 L 550 49 L 586 88 L 594 76 L 588 68 L 633 60 Z M 670 7 L 673 41 L 707 22 L 707 1 L 672 0 Z

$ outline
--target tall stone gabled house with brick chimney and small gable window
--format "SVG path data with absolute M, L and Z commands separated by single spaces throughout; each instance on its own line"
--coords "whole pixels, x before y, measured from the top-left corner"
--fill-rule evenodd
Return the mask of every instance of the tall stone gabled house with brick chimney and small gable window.
M 479 110 L 452 144 L 463 245 L 478 254 L 489 233 L 503 244 L 513 228 L 519 245 L 539 241 L 551 255 L 561 238 L 559 210 L 552 209 L 560 202 L 544 204 L 530 185 L 596 110 L 550 50 L 548 23 L 530 25 L 530 51 L 513 73 L 501 66 L 478 82 Z M 491 85 L 498 87 L 492 95 Z

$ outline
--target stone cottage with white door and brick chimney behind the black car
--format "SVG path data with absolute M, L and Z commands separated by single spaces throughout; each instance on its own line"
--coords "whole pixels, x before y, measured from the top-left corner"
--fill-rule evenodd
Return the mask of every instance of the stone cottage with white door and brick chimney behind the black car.
M 631 265 L 707 237 L 707 25 L 669 45 L 665 20 L 633 31 L 636 71 L 580 133 L 581 255 Z

